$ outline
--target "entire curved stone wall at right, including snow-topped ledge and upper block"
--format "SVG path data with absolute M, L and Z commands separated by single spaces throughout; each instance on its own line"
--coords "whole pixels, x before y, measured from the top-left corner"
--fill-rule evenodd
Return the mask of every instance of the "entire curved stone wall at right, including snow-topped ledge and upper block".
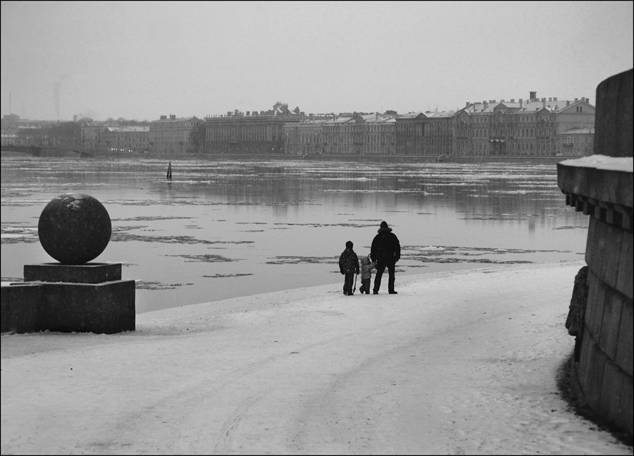
M 557 164 L 566 204 L 590 216 L 588 301 L 573 364 L 581 399 L 633 433 L 633 70 L 597 87 L 595 155 Z

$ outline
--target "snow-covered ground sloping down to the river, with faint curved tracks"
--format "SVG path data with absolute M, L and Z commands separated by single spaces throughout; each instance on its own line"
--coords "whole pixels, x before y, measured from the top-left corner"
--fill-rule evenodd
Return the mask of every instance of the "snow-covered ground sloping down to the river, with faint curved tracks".
M 397 276 L 1 338 L 1 453 L 583 454 L 632 448 L 557 370 L 582 262 Z M 387 278 L 385 279 L 387 283 Z

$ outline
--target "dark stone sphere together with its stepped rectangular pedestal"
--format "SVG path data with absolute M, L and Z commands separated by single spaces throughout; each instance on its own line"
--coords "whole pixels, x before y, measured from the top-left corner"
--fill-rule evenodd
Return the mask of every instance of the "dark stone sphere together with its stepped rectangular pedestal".
M 135 331 L 135 281 L 120 263 L 89 263 L 104 251 L 108 211 L 83 193 L 51 199 L 39 216 L 39 242 L 59 263 L 27 264 L 24 282 L 3 286 L 0 331 L 119 333 Z

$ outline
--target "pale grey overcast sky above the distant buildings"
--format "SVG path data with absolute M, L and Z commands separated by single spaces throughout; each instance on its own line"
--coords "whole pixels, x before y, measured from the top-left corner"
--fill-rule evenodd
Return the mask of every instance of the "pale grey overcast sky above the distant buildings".
M 595 104 L 633 67 L 632 1 L 3 0 L 1 21 L 1 113 L 41 120 Z

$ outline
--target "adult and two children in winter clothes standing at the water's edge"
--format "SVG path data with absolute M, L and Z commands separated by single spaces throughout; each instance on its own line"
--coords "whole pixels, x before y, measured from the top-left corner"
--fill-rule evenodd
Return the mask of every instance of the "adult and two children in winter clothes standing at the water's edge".
M 397 292 L 394 290 L 394 270 L 396 269 L 397 261 L 401 258 L 401 244 L 397 235 L 392 233 L 392 228 L 387 226 L 387 222 L 381 222 L 380 228 L 372 240 L 369 257 L 361 257 L 361 268 L 359 268 L 359 257 L 352 249 L 353 246 L 352 241 L 347 241 L 346 249 L 339 257 L 339 270 L 345 276 L 344 295 L 354 294 L 353 281 L 355 274 L 359 274 L 359 272 L 361 272 L 359 292 L 365 292 L 369 295 L 372 269 L 376 270 L 372 292 L 374 295 L 378 295 L 381 287 L 381 278 L 386 267 L 389 276 L 387 279 L 387 292 L 390 295 L 396 295 Z

